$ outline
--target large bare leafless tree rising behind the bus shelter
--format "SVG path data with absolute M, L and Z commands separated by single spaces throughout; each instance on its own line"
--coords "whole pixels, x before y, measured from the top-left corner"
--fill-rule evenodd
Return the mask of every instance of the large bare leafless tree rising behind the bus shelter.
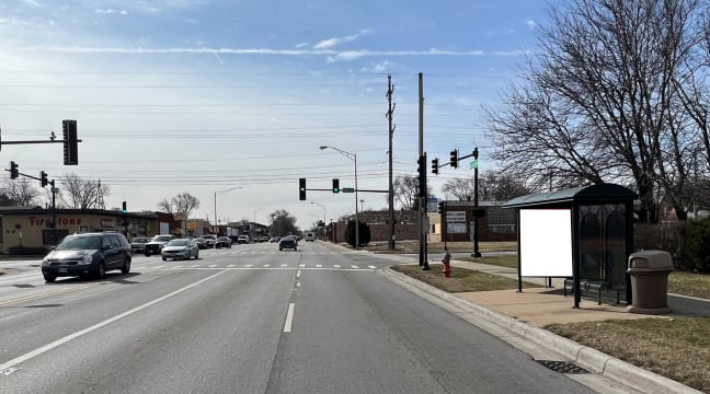
M 678 83 L 692 72 L 698 0 L 573 0 L 551 9 L 525 83 L 488 108 L 494 159 L 528 186 L 619 182 L 655 221 L 663 189 L 683 211 L 690 135 Z M 683 213 L 679 213 L 683 219 Z

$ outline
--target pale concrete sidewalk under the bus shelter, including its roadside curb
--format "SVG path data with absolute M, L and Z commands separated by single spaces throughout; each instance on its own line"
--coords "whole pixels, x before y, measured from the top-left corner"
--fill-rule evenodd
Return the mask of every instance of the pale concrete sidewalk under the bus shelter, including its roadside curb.
M 342 246 L 339 246 L 342 247 Z M 417 256 L 374 254 L 399 264 L 417 264 Z M 430 254 L 431 264 L 440 260 L 440 254 Z M 517 280 L 517 270 L 463 260 L 451 260 L 453 267 L 466 268 L 500 275 Z M 630 390 L 640 393 L 700 393 L 674 380 L 649 372 L 628 362 L 621 361 L 596 349 L 582 346 L 570 339 L 552 334 L 545 325 L 568 324 L 585 321 L 604 321 L 609 318 L 648 318 L 651 315 L 630 313 L 626 305 L 602 303 L 583 299 L 579 309 L 574 309 L 574 298 L 563 296 L 563 279 L 553 278 L 550 288 L 545 288 L 545 278 L 524 278 L 525 282 L 536 283 L 540 288 L 517 290 L 480 291 L 448 293 L 392 269 L 382 274 L 390 280 L 400 283 L 454 313 L 472 316 L 471 323 L 489 331 L 499 338 L 525 351 L 534 351 L 536 346 L 554 350 L 561 358 L 607 376 Z M 549 285 L 549 282 L 548 282 Z M 673 313 L 654 315 L 673 317 L 677 315 L 710 316 L 710 300 L 668 294 L 668 306 Z M 532 346 L 530 346 L 532 345 Z M 625 392 L 620 389 L 619 392 Z

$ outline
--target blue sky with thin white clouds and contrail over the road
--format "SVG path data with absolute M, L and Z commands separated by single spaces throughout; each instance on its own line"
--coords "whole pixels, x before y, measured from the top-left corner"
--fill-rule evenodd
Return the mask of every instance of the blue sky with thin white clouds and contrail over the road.
M 388 76 L 394 176 L 416 174 L 420 73 L 430 162 L 478 147 L 479 171 L 494 169 L 482 109 L 517 81 L 547 10 L 537 0 L 5 0 L 2 141 L 61 138 L 62 119 L 76 119 L 81 143 L 76 166 L 60 143 L 4 144 L 0 155 L 24 174 L 101 181 L 107 209 L 154 211 L 190 193 L 192 218 L 268 224 L 286 210 L 304 230 L 356 202 L 387 209 L 385 193 L 310 189 L 332 178 L 354 187 L 354 159 L 358 190 L 388 189 Z M 467 161 L 427 172 L 437 197 L 471 176 Z

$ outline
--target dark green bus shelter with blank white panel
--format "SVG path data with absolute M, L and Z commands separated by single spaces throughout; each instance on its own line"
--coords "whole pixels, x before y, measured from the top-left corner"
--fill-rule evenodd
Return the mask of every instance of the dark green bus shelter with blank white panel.
M 619 185 L 598 184 L 527 195 L 503 205 L 516 209 L 518 291 L 523 277 L 564 278 L 574 292 L 623 297 L 631 303 L 626 274 L 633 253 L 633 200 Z

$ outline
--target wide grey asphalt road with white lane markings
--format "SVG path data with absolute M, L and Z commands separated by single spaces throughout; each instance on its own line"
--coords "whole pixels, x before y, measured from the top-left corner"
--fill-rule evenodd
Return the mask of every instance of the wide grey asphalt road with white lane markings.
M 1 263 L 2 393 L 591 393 L 380 275 L 301 242 L 134 256 L 129 275 Z

